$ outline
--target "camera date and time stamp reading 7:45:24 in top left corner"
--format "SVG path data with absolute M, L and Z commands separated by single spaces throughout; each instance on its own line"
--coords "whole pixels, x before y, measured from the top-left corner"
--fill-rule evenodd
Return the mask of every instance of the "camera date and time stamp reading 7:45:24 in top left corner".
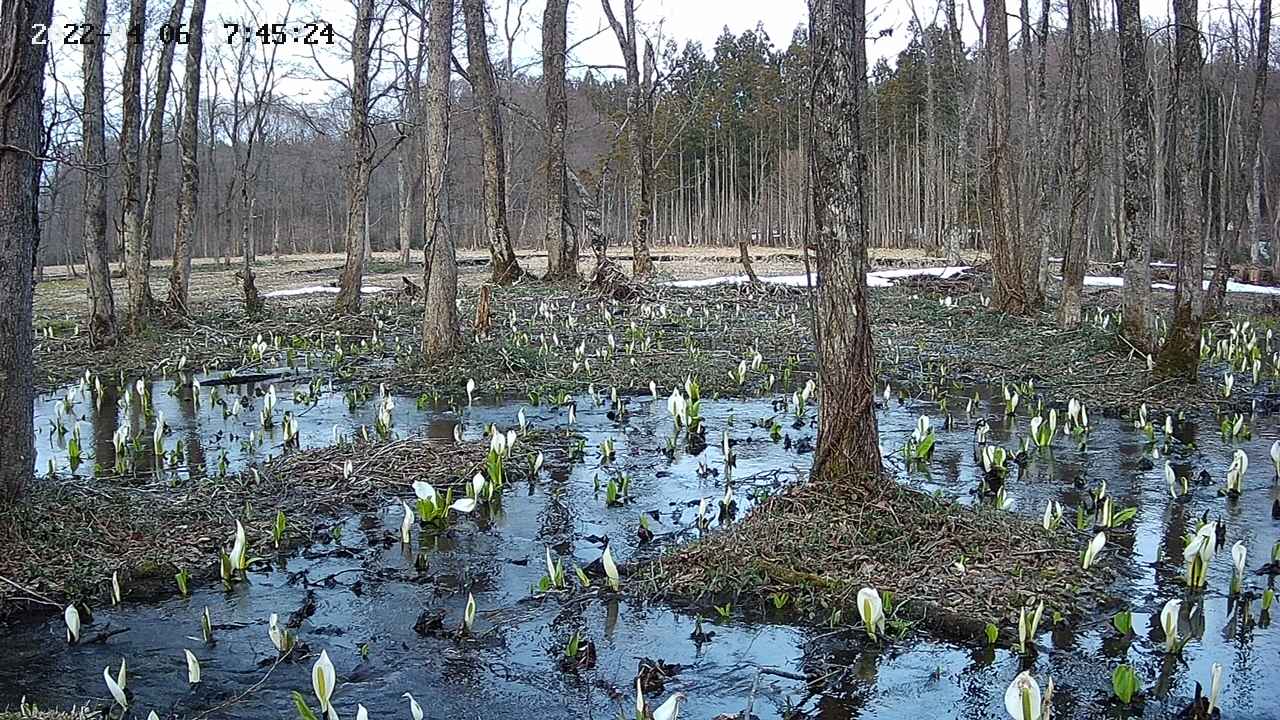
M 227 44 L 260 42 L 262 45 L 333 45 L 334 32 L 332 23 L 269 23 L 248 26 L 239 23 L 223 23 Z M 174 42 L 186 45 L 191 41 L 191 31 L 186 24 L 161 24 L 152 32 L 146 32 L 142 27 L 133 26 L 123 33 L 129 42 Z M 91 23 L 67 23 L 61 29 L 44 23 L 31 26 L 32 45 L 47 45 L 50 41 L 61 41 L 64 45 L 95 45 L 105 42 L 111 37 L 106 28 Z

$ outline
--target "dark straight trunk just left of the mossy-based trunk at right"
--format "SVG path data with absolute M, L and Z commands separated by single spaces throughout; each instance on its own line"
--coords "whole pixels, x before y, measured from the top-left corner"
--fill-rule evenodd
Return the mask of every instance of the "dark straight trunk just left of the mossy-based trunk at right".
M 1125 337 L 1143 352 L 1155 350 L 1151 324 L 1151 79 L 1147 36 L 1138 0 L 1116 0 L 1116 35 L 1124 83 L 1124 290 Z

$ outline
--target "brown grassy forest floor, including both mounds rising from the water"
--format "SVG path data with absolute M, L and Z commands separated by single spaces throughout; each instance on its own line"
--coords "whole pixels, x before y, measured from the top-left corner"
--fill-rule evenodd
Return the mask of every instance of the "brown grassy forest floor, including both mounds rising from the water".
M 662 279 L 741 272 L 732 249 L 658 249 L 654 255 Z M 801 273 L 804 268 L 794 251 L 754 249 L 753 255 L 760 275 Z M 877 268 L 946 264 L 914 252 L 877 251 L 872 260 Z M 980 259 L 966 260 L 975 264 Z M 534 273 L 545 268 L 544 258 L 525 255 L 522 261 Z M 268 293 L 329 284 L 340 263 L 338 256 L 266 259 L 255 272 L 259 290 Z M 484 256 L 475 252 L 465 252 L 461 265 L 460 300 L 470 325 L 488 268 Z M 157 293 L 160 273 L 157 268 L 152 278 Z M 131 382 L 138 374 L 172 372 L 179 359 L 186 359 L 188 369 L 236 372 L 255 365 L 246 351 L 259 336 L 275 347 L 292 348 L 296 359 L 323 364 L 335 383 L 383 384 L 390 392 L 454 405 L 467 400 L 467 379 L 475 379 L 477 397 L 530 397 L 532 402 L 590 387 L 602 393 L 611 387 L 622 395 L 648 393 L 650 382 L 669 392 L 686 377 L 699 380 L 705 397 L 760 396 L 773 389 L 774 382 L 797 387 L 815 374 L 808 293 L 782 286 L 655 284 L 648 288 L 644 302 L 631 305 L 604 301 L 586 287 L 526 282 L 495 288 L 488 332 L 477 337 L 468 327 L 466 346 L 449 363 L 426 365 L 417 357 L 421 300 L 398 293 L 401 277 L 420 282 L 420 266 L 406 269 L 389 254 L 380 254 L 370 263 L 366 286 L 392 290 L 366 296 L 358 316 L 335 316 L 332 295 L 300 295 L 268 299 L 265 316 L 246 320 L 234 268 L 201 264 L 192 277 L 189 318 L 164 319 L 146 334 L 93 351 L 78 331 L 84 320 L 83 281 L 52 279 L 55 273 L 49 272 L 36 296 L 42 333 L 38 377 L 51 391 L 86 370 L 101 377 L 123 373 Z M 1050 310 L 1032 318 L 988 310 L 983 301 L 988 286 L 989 278 L 979 270 L 950 281 L 906 278 L 895 287 L 873 290 L 879 386 L 923 395 L 943 379 L 957 386 L 1032 380 L 1046 402 L 1065 404 L 1075 397 L 1092 413 L 1105 415 L 1129 415 L 1140 402 L 1152 410 L 1215 411 L 1248 411 L 1251 400 L 1276 405 L 1275 397 L 1248 392 L 1224 398 L 1216 369 L 1206 368 L 1204 382 L 1198 384 L 1155 378 L 1146 357 L 1115 332 L 1116 290 L 1087 288 L 1087 322 L 1060 331 Z M 1157 292 L 1157 306 L 1167 306 L 1169 300 L 1167 293 Z M 1231 315 L 1208 325 L 1216 336 L 1240 319 L 1265 328 L 1276 323 L 1272 299 L 1236 295 L 1230 300 Z M 334 352 L 335 343 L 344 351 Z M 733 372 L 741 363 L 750 364 L 755 352 L 764 370 L 737 382 Z M 210 547 L 227 539 L 225 518 L 228 512 L 237 515 L 236 507 L 271 509 L 273 515 L 276 507 L 287 509 L 291 527 L 308 538 L 317 518 L 339 507 L 369 511 L 388 493 L 397 495 L 387 483 L 403 495 L 404 478 L 413 473 L 447 484 L 445 478 L 468 477 L 480 461 L 480 450 L 468 446 L 449 448 L 447 456 L 439 452 L 426 445 L 397 448 L 394 443 L 306 451 L 269 465 L 261 475 L 244 473 L 201 483 L 186 495 L 146 483 L 33 483 L 13 516 L 0 518 L 0 546 L 18 551 L 6 553 L 0 577 L 23 591 L 0 587 L 0 603 L 5 597 L 42 605 L 86 593 L 100 597 L 110 577 L 106 569 L 122 564 L 137 571 L 137 580 L 152 577 L 168 585 L 179 566 L 204 568 L 216 578 Z M 348 457 L 360 473 L 367 470 L 367 482 L 339 482 Z M 404 457 L 413 459 L 412 466 L 392 471 L 388 462 L 403 464 Z M 300 477 L 305 482 L 296 483 Z M 847 605 L 860 587 L 852 580 L 855 575 L 861 583 L 896 578 L 886 584 L 911 591 L 915 601 L 901 609 L 901 618 L 940 626 L 964 625 L 963 618 L 983 616 L 982 609 L 1018 607 L 1024 591 L 1068 606 L 1084 582 L 1071 538 L 1032 533 L 1025 521 L 959 509 L 892 483 L 846 489 L 791 488 L 730 532 L 677 548 L 641 573 L 650 592 L 659 594 L 696 594 L 705 602 L 722 591 L 763 594 L 790 588 L 822 596 L 833 606 Z M 868 524 L 868 509 L 883 510 L 882 521 Z M 269 537 L 273 519 L 251 519 L 259 525 L 252 528 L 253 536 Z M 986 555 L 973 559 L 980 573 L 966 575 L 966 582 L 977 583 L 968 596 L 931 596 L 952 571 L 937 561 L 948 556 L 937 552 L 942 542 L 936 538 L 937 528 L 942 527 L 948 528 L 946 542 L 987 548 Z M 1030 542 L 1028 536 L 1039 539 Z M 888 546 L 897 548 L 882 556 L 891 560 L 872 560 L 872 548 Z M 997 561 L 1006 552 L 1014 552 L 1016 560 Z M 1021 580 L 1015 583 L 1016 578 Z M 131 585 L 141 592 L 146 582 Z M 954 630 L 973 637 L 974 628 Z

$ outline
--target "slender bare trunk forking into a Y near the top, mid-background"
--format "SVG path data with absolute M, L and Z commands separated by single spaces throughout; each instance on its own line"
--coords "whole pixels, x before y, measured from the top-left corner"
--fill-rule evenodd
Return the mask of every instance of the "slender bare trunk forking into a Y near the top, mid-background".
M 627 78 L 627 142 L 631 152 L 631 201 L 635 218 L 631 228 L 631 274 L 640 278 L 653 274 L 649 256 L 649 228 L 653 220 L 653 77 L 655 61 L 653 45 L 645 42 L 644 76 L 641 77 L 639 38 L 636 37 L 635 0 L 622 0 L 622 18 L 613 14 L 612 0 L 600 0 L 613 35 L 622 50 Z

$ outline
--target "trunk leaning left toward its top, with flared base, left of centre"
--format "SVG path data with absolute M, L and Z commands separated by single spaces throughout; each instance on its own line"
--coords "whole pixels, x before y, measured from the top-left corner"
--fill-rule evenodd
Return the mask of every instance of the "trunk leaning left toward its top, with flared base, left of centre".
M 498 110 L 498 81 L 489 61 L 489 38 L 485 32 L 484 0 L 462 0 L 462 17 L 467 28 L 467 63 L 471 88 L 476 96 L 476 119 L 484 156 L 484 222 L 493 261 L 493 282 L 511 284 L 525 272 L 511 247 L 507 227 L 507 168 L 503 156 L 502 114 Z

